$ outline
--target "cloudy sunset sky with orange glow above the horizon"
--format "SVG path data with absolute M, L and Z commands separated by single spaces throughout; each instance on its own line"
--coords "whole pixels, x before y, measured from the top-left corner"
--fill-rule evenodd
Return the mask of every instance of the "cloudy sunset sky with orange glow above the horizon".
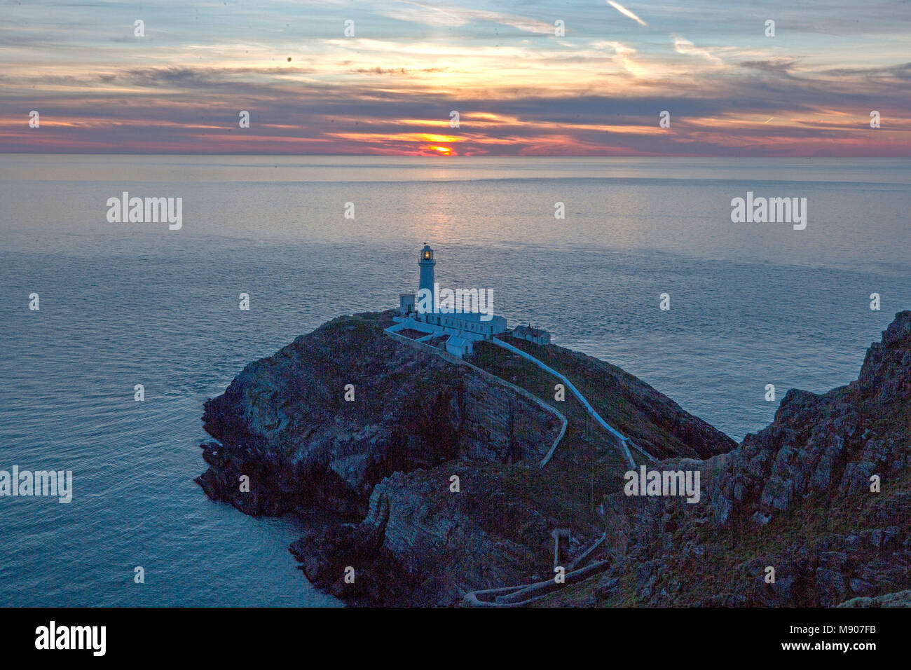
M 0 152 L 911 156 L 911 0 L 0 3 Z

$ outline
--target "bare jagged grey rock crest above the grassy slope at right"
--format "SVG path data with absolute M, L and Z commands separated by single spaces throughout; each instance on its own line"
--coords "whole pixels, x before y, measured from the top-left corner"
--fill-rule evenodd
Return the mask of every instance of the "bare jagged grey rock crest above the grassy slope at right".
M 911 460 L 911 312 L 896 314 L 848 387 L 817 396 L 792 389 L 773 424 L 715 459 L 710 497 L 718 521 L 768 521 L 811 494 L 869 490 Z

